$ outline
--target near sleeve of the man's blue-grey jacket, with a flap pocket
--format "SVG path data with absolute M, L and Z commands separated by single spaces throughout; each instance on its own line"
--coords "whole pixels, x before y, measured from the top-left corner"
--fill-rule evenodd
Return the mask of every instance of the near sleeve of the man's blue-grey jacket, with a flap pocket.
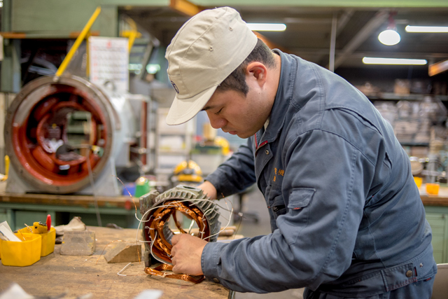
M 274 213 L 278 229 L 228 244 L 208 243 L 202 253 L 207 279 L 239 292 L 314 290 L 351 265 L 369 189 L 365 178 L 372 176 L 374 162 L 321 130 L 305 132 L 283 149 L 283 183 L 278 193 L 271 188 L 267 195 L 268 205 L 279 197 L 286 205 Z

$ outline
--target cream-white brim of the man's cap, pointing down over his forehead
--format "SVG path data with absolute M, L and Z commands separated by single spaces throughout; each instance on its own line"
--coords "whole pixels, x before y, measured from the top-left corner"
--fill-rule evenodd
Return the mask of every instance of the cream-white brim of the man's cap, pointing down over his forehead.
M 205 104 L 215 92 L 218 86 L 213 86 L 188 99 L 179 99 L 176 95 L 173 104 L 168 111 L 167 124 L 180 125 L 195 117 L 204 108 Z

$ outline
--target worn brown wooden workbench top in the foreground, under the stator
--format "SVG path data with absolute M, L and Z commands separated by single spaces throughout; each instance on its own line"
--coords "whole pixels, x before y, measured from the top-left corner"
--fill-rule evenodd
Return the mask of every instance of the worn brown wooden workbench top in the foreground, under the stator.
M 100 257 L 104 247 L 114 240 L 135 242 L 137 230 L 87 227 L 95 232 L 97 248 L 92 256 L 61 256 L 60 244 L 55 252 L 41 258 L 28 267 L 8 267 L 0 264 L 0 293 L 16 282 L 27 293 L 38 297 L 56 296 L 66 292 L 64 299 L 78 298 L 92 293 L 92 298 L 135 298 L 146 289 L 163 291 L 162 299 L 210 298 L 227 299 L 229 291 L 221 284 L 202 281 L 192 284 L 188 281 L 153 277 L 144 273 L 144 263 L 132 263 L 119 276 L 117 273 L 127 263 L 106 263 Z M 139 234 L 139 239 L 141 238 Z M 111 248 L 114 243 L 106 247 Z M 98 260 L 98 263 L 97 263 Z

